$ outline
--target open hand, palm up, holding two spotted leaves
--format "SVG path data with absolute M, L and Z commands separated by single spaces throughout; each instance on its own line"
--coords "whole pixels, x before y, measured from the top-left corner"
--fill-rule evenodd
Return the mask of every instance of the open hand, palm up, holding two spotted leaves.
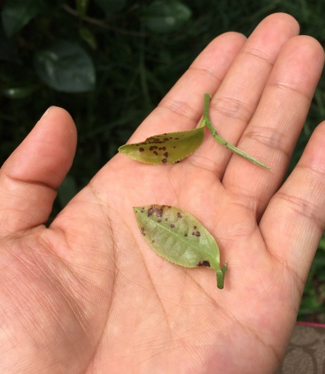
M 199 125 L 203 95 L 220 135 L 180 163 L 118 154 L 49 228 L 75 154 L 69 114 L 51 107 L 0 171 L 0 372 L 272 373 L 325 228 L 325 123 L 282 184 L 323 67 L 323 49 L 286 14 L 246 41 L 218 36 L 130 142 Z M 229 267 L 215 274 L 156 255 L 133 206 L 191 212 Z

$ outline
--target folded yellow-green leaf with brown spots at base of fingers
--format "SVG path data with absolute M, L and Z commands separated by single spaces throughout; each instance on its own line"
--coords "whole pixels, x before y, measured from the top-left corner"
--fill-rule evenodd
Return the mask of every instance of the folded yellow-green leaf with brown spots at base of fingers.
M 202 143 L 204 128 L 153 135 L 145 141 L 124 144 L 118 148 L 123 155 L 147 164 L 171 164 L 194 152 Z

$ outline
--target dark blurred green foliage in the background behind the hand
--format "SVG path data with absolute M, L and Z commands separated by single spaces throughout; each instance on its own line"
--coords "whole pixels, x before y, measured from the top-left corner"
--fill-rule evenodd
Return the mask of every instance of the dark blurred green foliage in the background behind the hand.
M 78 128 L 74 165 L 51 219 L 125 143 L 193 59 L 225 31 L 249 35 L 267 15 L 286 12 L 325 45 L 322 0 L 0 0 L 0 161 L 50 105 Z M 325 118 L 324 77 L 289 172 Z M 299 319 L 325 322 L 325 237 Z

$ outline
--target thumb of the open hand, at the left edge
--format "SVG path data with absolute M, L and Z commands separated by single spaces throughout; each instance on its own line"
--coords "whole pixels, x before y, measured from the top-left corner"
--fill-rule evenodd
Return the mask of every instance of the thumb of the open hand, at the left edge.
M 47 221 L 76 142 L 71 116 L 50 107 L 0 169 L 0 235 L 22 233 Z

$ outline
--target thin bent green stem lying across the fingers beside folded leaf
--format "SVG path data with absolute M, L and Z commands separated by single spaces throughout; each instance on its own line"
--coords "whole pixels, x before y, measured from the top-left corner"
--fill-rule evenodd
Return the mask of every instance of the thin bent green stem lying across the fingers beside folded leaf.
M 204 95 L 204 111 L 203 111 L 203 120 L 200 124 L 200 127 L 203 127 L 205 125 L 208 126 L 208 129 L 210 130 L 211 135 L 214 137 L 214 139 L 221 145 L 223 145 L 225 148 L 229 149 L 229 151 L 235 153 L 236 155 L 243 157 L 245 160 L 252 162 L 255 165 L 261 166 L 262 168 L 270 170 L 270 168 L 263 164 L 261 161 L 258 161 L 254 157 L 248 155 L 246 152 L 241 151 L 241 149 L 235 147 L 235 145 L 229 143 L 225 139 L 223 139 L 220 135 L 218 135 L 217 130 L 213 127 L 210 117 L 209 117 L 209 104 L 210 104 L 210 94 Z

